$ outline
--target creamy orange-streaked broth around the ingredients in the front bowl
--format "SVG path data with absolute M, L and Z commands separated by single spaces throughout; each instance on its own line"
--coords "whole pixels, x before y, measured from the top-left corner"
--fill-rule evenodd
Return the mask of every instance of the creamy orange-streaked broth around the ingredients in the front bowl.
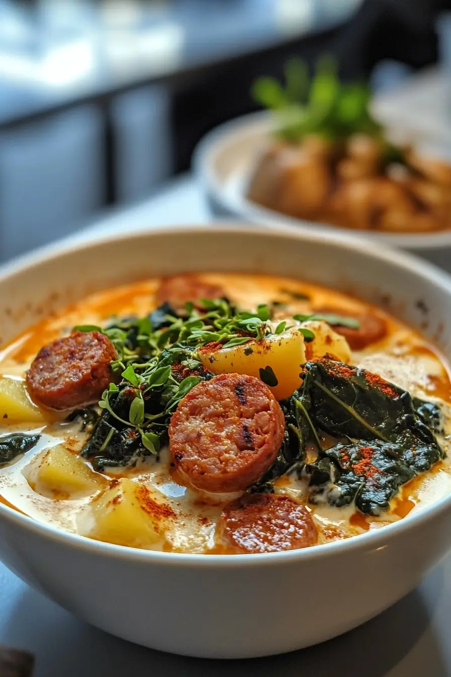
M 251 310 L 259 303 L 277 301 L 277 320 L 291 318 L 297 313 L 308 314 L 315 307 L 334 307 L 337 312 L 375 313 L 386 322 L 387 335 L 381 341 L 352 353 L 349 364 L 375 372 L 415 397 L 440 403 L 444 434 L 437 436 L 437 439 L 446 452 L 446 457 L 428 473 L 403 485 L 398 496 L 391 501 L 390 510 L 379 517 L 363 515 L 356 510 L 354 504 L 338 508 L 321 502 L 307 503 L 308 483 L 293 474 L 283 475 L 275 481 L 275 492 L 306 504 L 318 529 L 318 543 L 348 538 L 368 529 L 379 528 L 449 494 L 450 378 L 448 364 L 435 347 L 383 311 L 339 292 L 289 278 L 228 274 L 198 277 L 205 282 L 222 286 L 229 299 L 241 308 Z M 24 380 L 26 370 L 37 351 L 49 341 L 67 335 L 73 326 L 105 326 L 115 317 L 147 315 L 157 305 L 155 294 L 158 284 L 158 280 L 148 280 L 97 292 L 62 313 L 39 322 L 0 351 L 0 377 Z M 99 538 L 95 535 L 93 526 L 94 508 L 99 505 L 101 496 L 110 483 L 114 484 L 118 478 L 126 477 L 149 489 L 146 494 L 149 502 L 143 510 L 153 523 L 160 523 L 157 529 L 160 538 L 141 540 L 134 534 L 128 539 L 117 534 L 114 536 L 113 529 L 112 538 L 104 540 L 174 552 L 232 552 L 218 537 L 216 525 L 222 508 L 235 496 L 206 496 L 186 487 L 174 471 L 168 448 L 164 448 L 157 457 L 149 454 L 145 458 L 137 459 L 133 467 L 105 468 L 102 473 L 93 471 L 94 477 L 99 477 L 99 489 L 87 496 L 68 496 L 64 490 L 58 494 L 42 489 L 37 481 L 37 458 L 42 459 L 45 450 L 51 450 L 59 444 L 76 455 L 87 438 L 87 433 L 80 431 L 79 422 L 65 422 L 66 414 L 67 412 L 43 412 L 45 420 L 39 424 L 21 423 L 17 420 L 10 422 L 8 418 L 0 418 L 0 435 L 16 431 L 41 435 L 32 450 L 0 468 L 0 500 L 37 521 L 71 533 Z M 84 462 L 91 470 L 89 462 Z

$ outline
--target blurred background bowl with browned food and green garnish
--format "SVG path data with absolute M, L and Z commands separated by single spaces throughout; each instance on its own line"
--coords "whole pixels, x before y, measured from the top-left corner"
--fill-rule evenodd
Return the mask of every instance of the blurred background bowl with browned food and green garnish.
M 258 223 L 311 223 L 417 250 L 449 265 L 451 164 L 442 144 L 384 129 L 361 83 L 342 85 L 320 62 L 302 62 L 287 86 L 261 78 L 270 111 L 222 125 L 199 144 L 194 165 L 214 213 Z M 304 76 L 304 80 L 303 80 Z

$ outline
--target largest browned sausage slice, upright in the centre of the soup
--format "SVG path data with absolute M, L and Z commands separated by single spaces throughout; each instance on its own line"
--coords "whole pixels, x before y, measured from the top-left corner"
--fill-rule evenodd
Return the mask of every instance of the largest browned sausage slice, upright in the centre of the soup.
M 239 492 L 274 462 L 284 431 L 281 407 L 259 378 L 221 374 L 181 401 L 170 421 L 170 450 L 197 489 Z

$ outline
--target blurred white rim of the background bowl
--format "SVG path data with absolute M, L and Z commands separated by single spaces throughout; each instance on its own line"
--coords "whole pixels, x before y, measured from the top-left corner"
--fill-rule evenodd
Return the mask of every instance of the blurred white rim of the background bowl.
M 204 185 L 206 192 L 214 199 L 222 209 L 233 213 L 237 219 L 253 221 L 260 225 L 272 225 L 275 227 L 308 226 L 314 230 L 325 230 L 330 234 L 337 231 L 344 234 L 353 234 L 357 237 L 363 237 L 372 242 L 381 242 L 389 246 L 401 248 L 416 249 L 437 249 L 446 246 L 451 247 L 451 228 L 432 233 L 384 233 L 371 230 L 357 230 L 354 228 L 343 228 L 331 225 L 323 221 L 309 221 L 308 219 L 297 219 L 286 214 L 279 213 L 272 209 L 258 205 L 247 197 L 241 196 L 239 202 L 231 199 L 227 191 L 222 187 L 222 181 L 215 171 L 216 157 L 224 148 L 234 141 L 236 137 L 245 134 L 247 128 L 264 133 L 268 131 L 270 121 L 270 112 L 258 110 L 257 112 L 241 115 L 233 120 L 229 120 L 222 125 L 204 135 L 195 146 L 191 160 L 191 166 L 201 185 Z

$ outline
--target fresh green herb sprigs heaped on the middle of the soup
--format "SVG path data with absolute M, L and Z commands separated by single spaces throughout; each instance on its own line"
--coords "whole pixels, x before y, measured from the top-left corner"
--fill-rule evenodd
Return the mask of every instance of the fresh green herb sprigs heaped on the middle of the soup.
M 102 332 L 112 341 L 118 353 L 111 366 L 116 382 L 122 380 L 118 385 L 110 383 L 99 401 L 103 414 L 110 418 L 102 443 L 97 445 L 98 453 L 108 452 L 114 443 L 122 443 L 120 435 L 125 435 L 126 439 L 138 437 L 147 452 L 158 454 L 172 413 L 200 378 L 205 378 L 203 374 L 206 372 L 202 372 L 203 367 L 197 359 L 197 349 L 209 343 L 227 348 L 262 341 L 290 328 L 302 332 L 306 341 L 314 339 L 310 329 L 294 323 L 288 325 L 287 320 L 272 329 L 272 308 L 266 304 L 258 305 L 256 311 L 249 312 L 236 309 L 225 299 L 203 299 L 201 303 L 203 311 L 195 309 L 193 303 L 187 303 L 183 316 L 164 304 L 144 318 L 123 318 L 105 328 L 94 325 L 74 328 Z M 293 320 L 327 321 L 327 317 L 330 320 L 332 316 L 295 315 Z M 332 319 L 337 320 L 337 317 L 333 315 Z M 342 319 L 349 321 L 349 318 Z M 335 324 L 338 322 L 335 321 Z M 176 366 L 185 376 L 182 380 L 176 378 Z M 260 376 L 265 383 L 277 383 L 270 367 L 262 371 L 264 374 Z M 89 456 L 89 450 L 86 455 Z M 101 466 L 105 459 L 96 458 L 100 458 Z

